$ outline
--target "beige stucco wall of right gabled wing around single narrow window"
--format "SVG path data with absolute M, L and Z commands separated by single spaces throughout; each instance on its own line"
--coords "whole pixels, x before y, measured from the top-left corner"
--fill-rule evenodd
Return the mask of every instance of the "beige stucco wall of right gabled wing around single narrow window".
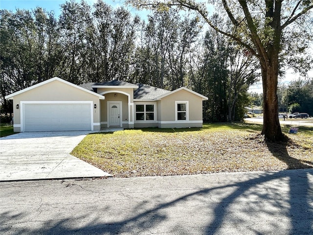
M 202 98 L 185 90 L 161 99 L 158 109 L 161 109 L 160 118 L 162 121 L 175 121 L 175 101 L 189 101 L 189 121 L 202 120 Z M 158 119 L 159 120 L 159 119 Z

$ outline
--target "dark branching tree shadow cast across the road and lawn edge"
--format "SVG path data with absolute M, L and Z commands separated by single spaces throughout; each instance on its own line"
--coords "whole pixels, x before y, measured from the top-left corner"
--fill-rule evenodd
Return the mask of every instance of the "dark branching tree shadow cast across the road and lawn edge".
M 281 161 L 286 161 L 291 167 L 293 164 L 303 164 L 297 163 L 298 160 L 291 158 L 288 155 L 286 147 L 286 150 L 284 150 L 283 147 L 280 148 L 280 151 L 277 151 L 277 146 L 269 143 L 268 148 L 275 157 L 281 159 Z M 307 165 L 303 166 L 305 167 Z M 312 175 L 313 171 L 287 170 L 259 173 L 258 176 L 251 176 L 246 181 L 239 180 L 238 182 L 234 181 L 212 188 L 201 188 L 194 192 L 180 195 L 176 199 L 164 203 L 157 203 L 156 205 L 153 204 L 155 206 L 152 207 L 150 205 L 147 207 L 148 202 L 146 201 L 137 203 L 137 205 L 134 206 L 134 214 L 128 218 L 115 219 L 115 221 L 111 220 L 107 223 L 103 221 L 99 222 L 96 218 L 89 221 L 89 223 L 83 227 L 71 226 L 70 222 L 76 221 L 76 223 L 79 224 L 77 221 L 90 217 L 89 214 L 81 216 L 73 215 L 73 218 L 61 220 L 56 218 L 55 220 L 45 221 L 44 225 L 40 228 L 33 227 L 32 230 L 19 226 L 17 229 L 15 228 L 16 230 L 10 231 L 10 221 L 16 220 L 16 215 L 4 212 L 1 214 L 2 229 L 0 232 L 2 231 L 4 234 L 10 232 L 9 234 L 25 235 L 145 234 L 144 231 L 153 230 L 153 228 L 159 224 L 165 223 L 167 220 L 171 219 L 166 213 L 166 210 L 170 210 L 178 205 L 184 205 L 188 200 L 200 200 L 199 197 L 210 201 L 212 196 L 218 195 L 219 198 L 221 198 L 218 201 L 204 204 L 204 207 L 209 207 L 209 204 L 210 206 L 214 204 L 214 206 L 207 208 L 207 210 L 213 211 L 213 213 L 211 213 L 212 217 L 209 215 L 202 216 L 202 218 L 207 219 L 207 221 L 204 221 L 206 225 L 201 232 L 188 231 L 184 230 L 184 228 L 180 228 L 179 230 L 178 227 L 181 225 L 165 223 L 167 226 L 172 227 L 172 230 L 169 229 L 169 231 L 172 231 L 172 234 L 190 234 L 191 232 L 195 232 L 193 234 L 205 235 L 225 234 L 225 231 L 230 231 L 227 230 L 227 226 L 230 226 L 230 223 L 234 226 L 233 228 L 237 234 L 282 234 L 280 233 L 280 231 L 282 231 L 280 227 L 281 224 L 279 223 L 280 217 L 277 217 L 277 221 L 271 221 L 269 225 L 264 224 L 264 226 L 268 226 L 267 228 L 261 228 L 262 223 L 256 226 L 252 221 L 251 224 L 249 224 L 249 216 L 260 216 L 260 219 L 266 219 L 269 216 L 275 216 L 277 213 L 280 215 L 284 214 L 285 220 L 290 221 L 290 228 L 285 228 L 285 231 L 288 231 L 287 234 L 311 235 L 313 234 L 313 191 L 308 178 L 310 174 Z M 289 185 L 289 191 L 286 192 L 286 195 L 280 195 L 280 192 L 275 191 L 275 189 L 280 187 L 280 182 L 281 184 L 286 183 Z M 270 188 L 266 188 L 268 185 L 270 185 Z M 257 200 L 261 200 L 261 203 L 257 204 L 257 208 L 255 208 L 256 205 L 254 204 L 255 197 Z M 242 203 L 241 207 L 235 209 L 234 205 L 240 202 Z M 251 213 L 251 210 L 254 212 Z M 94 213 L 97 212 L 98 211 L 95 211 Z M 99 214 L 98 216 L 98 218 L 100 218 L 104 215 Z M 18 217 L 21 217 L 21 215 Z M 226 222 L 227 226 L 225 227 Z M 245 224 L 246 227 L 242 229 L 239 228 L 243 224 Z M 228 229 L 230 228 L 231 226 L 228 227 Z

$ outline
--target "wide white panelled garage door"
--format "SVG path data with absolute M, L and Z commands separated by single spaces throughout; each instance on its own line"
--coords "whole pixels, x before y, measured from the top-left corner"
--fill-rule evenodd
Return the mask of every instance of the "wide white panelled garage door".
M 90 103 L 25 103 L 25 132 L 91 130 Z

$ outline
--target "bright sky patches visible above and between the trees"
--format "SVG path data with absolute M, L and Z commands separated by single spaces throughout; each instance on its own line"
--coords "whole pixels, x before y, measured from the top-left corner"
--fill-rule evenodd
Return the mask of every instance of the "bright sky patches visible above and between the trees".
M 80 0 L 75 0 L 80 2 Z M 89 5 L 92 5 L 97 0 L 86 0 Z M 104 0 L 107 4 L 112 5 L 116 8 L 122 6 L 125 0 Z M 58 16 L 61 13 L 60 5 L 65 3 L 66 0 L 0 0 L 0 9 L 12 10 L 16 9 L 35 9 L 37 6 L 46 9 L 47 11 L 54 11 L 55 15 Z M 142 19 L 149 14 L 147 10 L 135 10 L 134 8 L 128 7 L 128 10 L 132 14 L 139 15 Z M 313 77 L 313 71 L 309 73 L 310 77 Z M 298 73 L 293 72 L 291 69 L 286 71 L 286 75 L 279 83 L 289 84 L 291 81 L 303 79 Z M 263 93 L 262 82 L 257 82 L 255 85 L 250 86 L 249 92 Z

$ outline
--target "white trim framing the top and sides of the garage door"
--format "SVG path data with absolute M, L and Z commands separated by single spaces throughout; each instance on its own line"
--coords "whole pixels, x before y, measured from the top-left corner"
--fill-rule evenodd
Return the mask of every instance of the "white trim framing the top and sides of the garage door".
M 21 132 L 24 132 L 24 104 L 90 104 L 90 126 L 91 131 L 93 131 L 93 101 L 77 101 L 77 100 L 70 100 L 70 101 L 21 101 L 20 102 L 20 122 L 21 122 Z

